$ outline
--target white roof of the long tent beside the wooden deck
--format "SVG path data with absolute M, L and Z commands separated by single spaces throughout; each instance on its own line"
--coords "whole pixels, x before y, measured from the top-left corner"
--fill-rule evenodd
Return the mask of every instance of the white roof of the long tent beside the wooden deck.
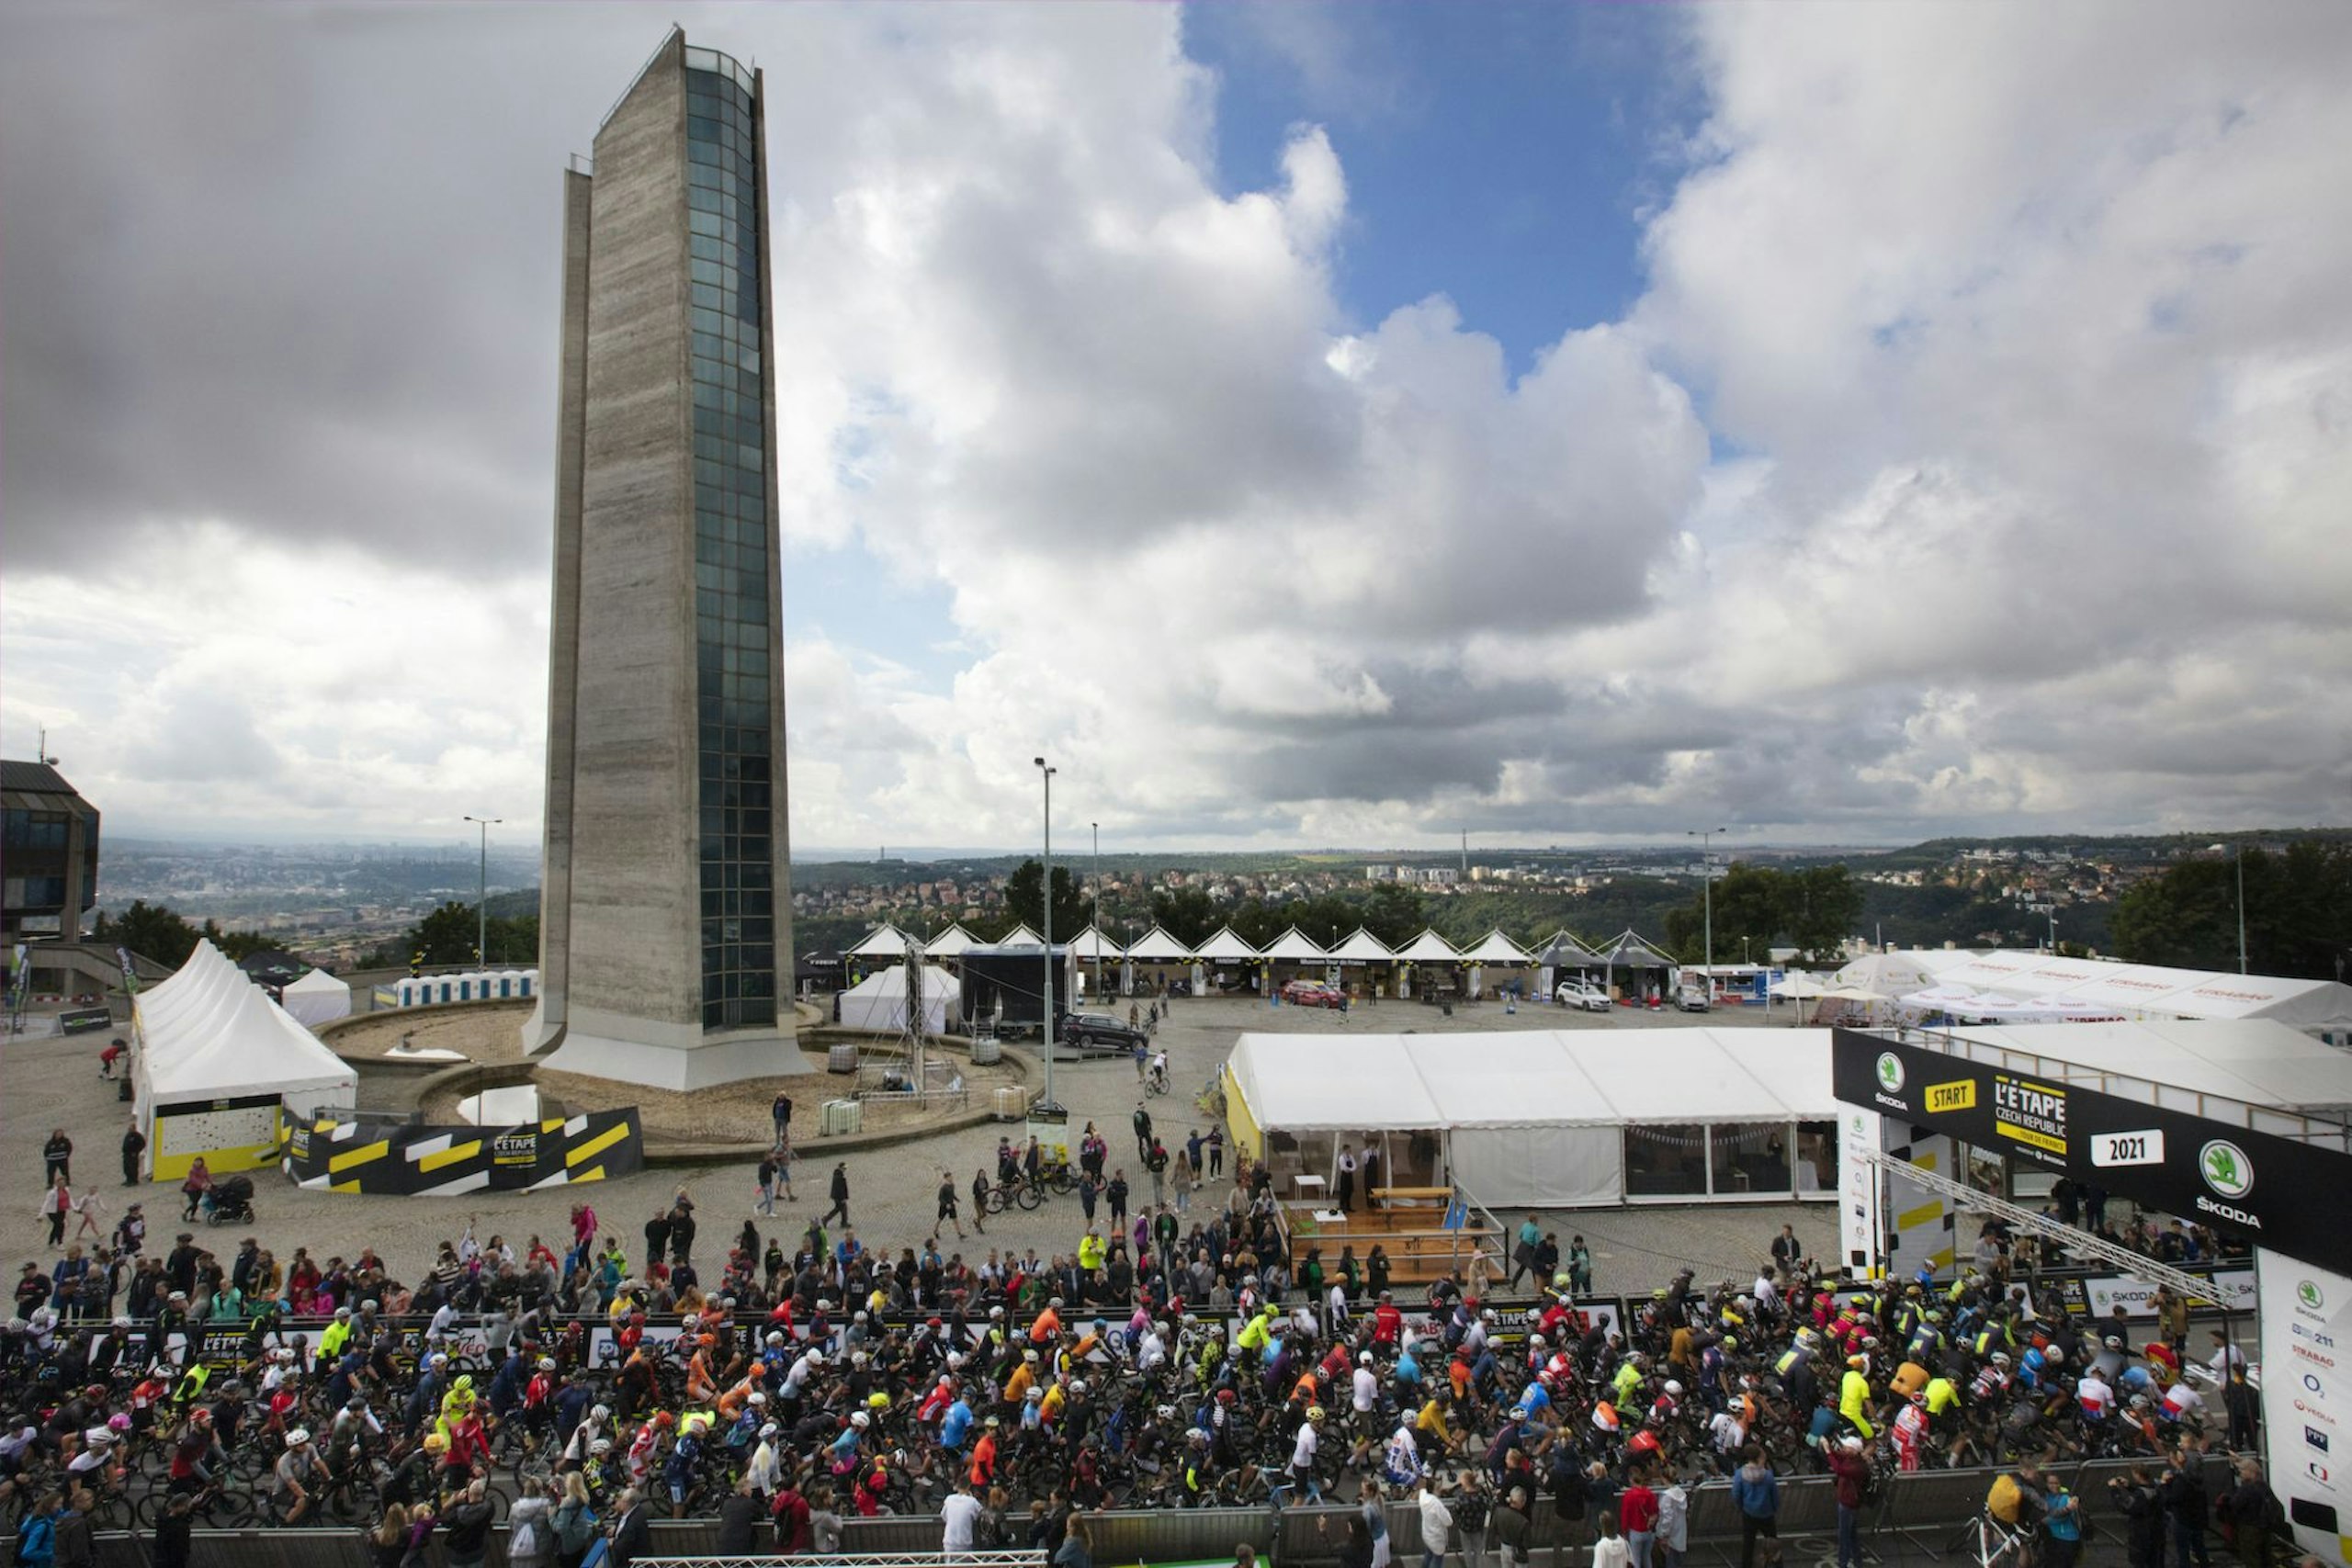
M 1242 1034 L 1232 1077 L 1263 1128 L 1832 1121 L 1823 1030 Z

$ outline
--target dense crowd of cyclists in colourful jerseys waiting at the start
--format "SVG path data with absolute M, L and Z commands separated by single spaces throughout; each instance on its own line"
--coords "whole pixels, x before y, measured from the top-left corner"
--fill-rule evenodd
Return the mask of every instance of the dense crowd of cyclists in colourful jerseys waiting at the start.
M 61 1312 L 19 1288 L 0 1523 L 169 1542 L 343 1521 L 400 1563 L 435 1528 L 473 1561 L 513 1519 L 569 1568 L 633 1509 L 720 1514 L 739 1540 L 760 1521 L 786 1552 L 835 1549 L 849 1516 L 943 1512 L 971 1544 L 1051 1549 L 1084 1509 L 1428 1488 L 1508 1549 L 1616 1519 L 1630 1488 L 1759 1467 L 1875 1486 L 2253 1443 L 2220 1331 L 2206 1359 L 2180 1302 L 2157 1302 L 2154 1335 L 2084 1321 L 1983 1251 L 1957 1276 L 1853 1284 L 1783 1234 L 1755 1279 L 1684 1269 L 1628 1321 L 1569 1272 L 1505 1316 L 1475 1281 L 1392 1288 L 1385 1262 L 1294 1274 L 1247 1161 L 1188 1225 L 1089 1225 L 1049 1260 L 746 1220 L 703 1284 L 694 1241 L 680 1194 L 668 1255 L 635 1267 L 581 1206 L 564 1255 L 468 1227 L 414 1288 L 372 1253 L 280 1267 L 247 1244 L 221 1265 L 188 1234 L 132 1265 L 115 1316 L 94 1291 Z

